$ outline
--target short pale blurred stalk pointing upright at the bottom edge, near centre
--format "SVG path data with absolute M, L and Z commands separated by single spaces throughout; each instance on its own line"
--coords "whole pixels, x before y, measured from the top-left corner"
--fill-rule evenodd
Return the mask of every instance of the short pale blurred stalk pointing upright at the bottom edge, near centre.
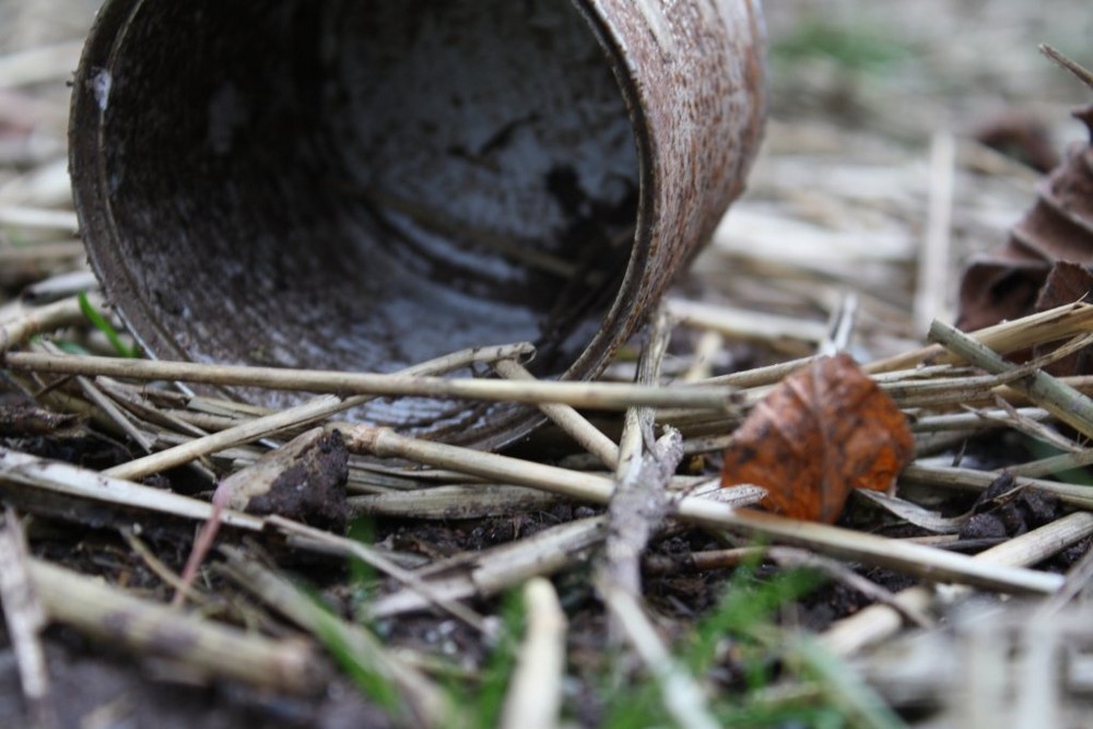
M 524 587 L 527 633 L 502 709 L 501 729 L 553 729 L 559 726 L 565 678 L 566 619 L 549 580 Z

